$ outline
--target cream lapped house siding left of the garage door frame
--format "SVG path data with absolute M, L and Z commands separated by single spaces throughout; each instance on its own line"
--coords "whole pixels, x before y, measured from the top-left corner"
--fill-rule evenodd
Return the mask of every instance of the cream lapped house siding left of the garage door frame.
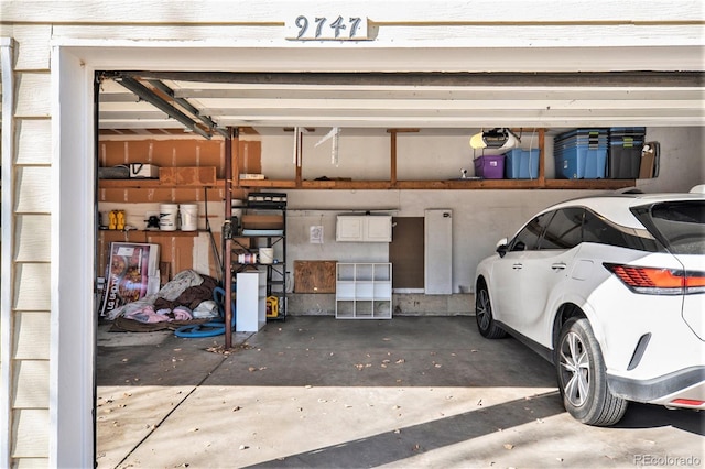
M 17 467 L 48 465 L 51 323 L 51 69 L 50 25 L 7 26 L 14 40 L 14 157 L 11 197 L 13 287 L 9 321 L 8 452 Z M 3 90 L 9 92 L 10 90 Z M 3 116 L 3 121 L 8 119 Z M 4 445 L 4 443 L 3 443 Z

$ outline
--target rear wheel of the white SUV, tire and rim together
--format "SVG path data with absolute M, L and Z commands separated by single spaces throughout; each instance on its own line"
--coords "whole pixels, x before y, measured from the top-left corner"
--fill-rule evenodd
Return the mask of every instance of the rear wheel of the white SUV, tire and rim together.
M 575 419 L 596 426 L 621 419 L 628 402 L 607 386 L 603 355 L 587 319 L 568 319 L 561 329 L 556 367 L 563 404 Z

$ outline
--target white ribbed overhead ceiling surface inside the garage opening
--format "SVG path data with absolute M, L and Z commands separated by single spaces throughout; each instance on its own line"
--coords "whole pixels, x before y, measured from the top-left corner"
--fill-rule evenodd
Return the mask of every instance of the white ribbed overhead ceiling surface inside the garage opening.
M 256 74 L 252 80 L 221 74 L 130 74 L 188 116 L 206 134 L 228 127 L 259 132 L 310 128 L 429 128 L 477 129 L 492 127 L 619 127 L 705 124 L 702 75 L 686 79 L 677 74 L 608 74 L 582 77 L 550 76 L 545 84 L 527 76 L 503 76 L 492 85 L 479 76 L 351 74 L 330 79 L 313 74 L 285 74 L 285 78 Z M 194 78 L 196 77 L 196 78 Z M 376 83 L 376 77 L 380 78 Z M 384 78 L 384 79 L 382 79 Z M 391 78 L 391 79 L 387 79 Z M 653 79 L 650 79 L 653 78 Z M 160 83 L 172 96 L 154 90 Z M 466 84 L 467 83 L 467 84 Z M 174 133 L 193 131 L 153 103 L 106 74 L 99 91 L 101 133 Z M 186 102 L 188 106 L 183 106 Z M 205 118 L 205 119 L 200 119 Z M 209 129 L 209 124 L 213 128 Z

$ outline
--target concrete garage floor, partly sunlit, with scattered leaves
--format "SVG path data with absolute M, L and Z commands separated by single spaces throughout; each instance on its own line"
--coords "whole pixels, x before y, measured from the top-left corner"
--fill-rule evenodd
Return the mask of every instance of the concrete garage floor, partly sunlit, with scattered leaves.
M 475 318 L 296 316 L 223 336 L 108 332 L 99 468 L 695 466 L 703 414 L 631 404 L 616 427 L 563 410 L 553 367 Z

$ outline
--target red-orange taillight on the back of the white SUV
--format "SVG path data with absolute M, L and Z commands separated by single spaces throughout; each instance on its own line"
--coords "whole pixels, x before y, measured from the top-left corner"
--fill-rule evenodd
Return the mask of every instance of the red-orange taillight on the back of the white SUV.
M 603 265 L 636 293 L 687 295 L 705 292 L 705 272 L 609 263 Z

